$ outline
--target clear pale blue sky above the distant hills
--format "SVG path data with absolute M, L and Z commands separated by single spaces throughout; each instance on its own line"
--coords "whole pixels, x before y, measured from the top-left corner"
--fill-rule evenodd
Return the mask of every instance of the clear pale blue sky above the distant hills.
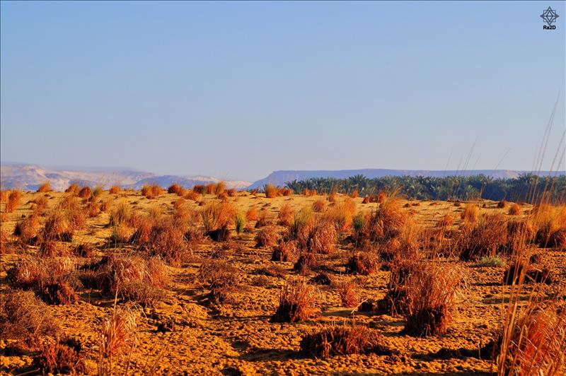
M 532 170 L 566 130 L 563 1 L 0 7 L 2 162 Z

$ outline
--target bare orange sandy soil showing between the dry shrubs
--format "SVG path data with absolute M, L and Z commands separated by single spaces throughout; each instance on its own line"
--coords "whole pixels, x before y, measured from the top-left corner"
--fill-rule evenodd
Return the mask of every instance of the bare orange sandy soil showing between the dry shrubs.
M 23 215 L 30 213 L 30 201 L 39 193 L 26 193 L 22 205 L 8 214 L 7 221 L 1 227 L 8 233 Z M 64 194 L 48 193 L 48 208 L 54 207 Z M 250 206 L 267 208 L 272 216 L 277 216 L 279 208 L 289 203 L 294 208 L 311 206 L 316 199 L 325 196 L 280 196 L 266 199 L 262 194 L 253 196 L 246 192 L 230 197 L 229 201 L 242 212 Z M 345 196 L 338 196 L 341 201 Z M 127 199 L 136 210 L 149 210 L 151 206 L 163 206 L 171 210 L 177 199 L 174 194 L 163 194 L 158 199 L 146 199 L 139 192 L 108 194 L 102 199 Z M 203 198 L 202 198 L 203 199 Z M 205 195 L 204 201 L 215 199 Z M 362 204 L 362 199 L 354 199 L 358 210 L 369 211 L 377 204 Z M 195 201 L 190 202 L 198 208 Z M 403 210 L 411 211 L 417 223 L 430 226 L 446 213 L 453 213 L 458 226 L 459 212 L 462 206 L 454 206 L 443 201 L 411 201 L 418 206 L 408 206 Z M 482 213 L 501 211 L 507 215 L 507 209 L 496 208 L 495 202 L 481 201 Z M 2 204 L 4 208 L 4 204 Z M 529 205 L 522 212 L 530 210 Z M 106 252 L 126 252 L 127 249 L 108 247 L 110 229 L 108 213 L 101 213 L 96 218 L 89 218 L 84 230 L 74 238 L 74 242 L 91 242 L 98 247 L 98 254 Z M 509 287 L 502 286 L 502 267 L 475 267 L 473 263 L 456 262 L 465 269 L 466 288 L 458 297 L 458 312 L 446 334 L 428 338 L 414 338 L 400 334 L 403 318 L 387 315 L 369 315 L 356 312 L 355 309 L 343 308 L 335 284 L 349 281 L 355 276 L 345 275 L 345 262 L 350 256 L 351 246 L 340 246 L 337 254 L 323 257 L 323 269 L 333 280 L 333 286 L 317 286 L 320 295 L 317 301 L 320 315 L 296 324 L 273 324 L 270 316 L 277 308 L 279 288 L 286 279 L 310 278 L 318 273 L 312 271 L 306 277 L 297 276 L 292 271 L 292 262 L 271 262 L 272 249 L 256 247 L 254 233 L 233 235 L 229 249 L 222 252 L 222 257 L 242 274 L 242 284 L 233 296 L 233 302 L 211 307 L 205 301 L 208 290 L 199 288 L 193 282 L 202 260 L 207 259 L 222 245 L 207 240 L 195 249 L 194 262 L 182 268 L 170 268 L 171 285 L 166 298 L 154 308 L 143 308 L 139 324 L 139 343 L 127 356 L 115 360 L 113 373 L 148 374 L 156 366 L 156 374 L 194 375 L 194 374 L 238 374 L 245 375 L 327 375 L 336 373 L 349 374 L 443 374 L 469 375 L 488 373 L 494 364 L 490 359 L 476 358 L 443 359 L 435 354 L 441 348 L 474 349 L 493 338 L 492 332 L 502 324 L 502 312 Z M 35 252 L 30 247 L 28 252 Z M 552 293 L 565 283 L 566 252 L 551 249 L 536 249 L 542 254 L 543 263 L 550 266 L 558 281 L 545 286 L 547 293 Z M 6 270 L 21 257 L 18 253 L 1 255 L 2 290 L 6 289 Z M 267 266 L 282 266 L 287 275 L 284 278 L 265 277 L 265 286 L 255 286 L 258 271 Z M 379 271 L 366 278 L 359 278 L 358 292 L 362 299 L 381 298 L 386 292 L 389 272 Z M 112 299 L 103 298 L 95 290 L 81 291 L 81 300 L 75 305 L 52 305 L 54 313 L 64 334 L 79 337 L 86 347 L 86 357 L 93 372 L 96 372 L 98 358 L 98 331 L 103 317 L 112 312 Z M 171 318 L 175 322 L 175 331 L 159 333 L 156 325 L 160 319 Z M 337 356 L 325 360 L 304 358 L 299 355 L 299 341 L 304 334 L 320 329 L 329 324 L 357 322 L 378 329 L 384 341 L 399 355 L 376 356 L 352 355 Z M 4 348 L 10 339 L 1 339 L 0 348 Z M 131 353 L 130 353 L 131 352 Z M 30 370 L 33 353 L 26 356 L 0 356 L 2 373 L 19 373 Z

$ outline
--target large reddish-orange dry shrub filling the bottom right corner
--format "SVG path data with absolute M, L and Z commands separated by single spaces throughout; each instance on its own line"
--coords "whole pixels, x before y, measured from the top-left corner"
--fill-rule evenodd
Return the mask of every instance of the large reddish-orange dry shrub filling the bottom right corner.
M 507 324 L 497 375 L 562 375 L 566 361 L 566 313 L 555 302 L 532 301 Z

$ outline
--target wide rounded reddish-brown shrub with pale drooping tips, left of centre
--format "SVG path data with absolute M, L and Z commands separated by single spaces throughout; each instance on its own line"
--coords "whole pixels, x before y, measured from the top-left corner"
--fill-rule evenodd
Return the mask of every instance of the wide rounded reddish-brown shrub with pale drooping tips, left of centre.
M 167 266 L 158 257 L 111 256 L 93 271 L 94 283 L 103 294 L 144 306 L 161 301 L 169 281 Z

